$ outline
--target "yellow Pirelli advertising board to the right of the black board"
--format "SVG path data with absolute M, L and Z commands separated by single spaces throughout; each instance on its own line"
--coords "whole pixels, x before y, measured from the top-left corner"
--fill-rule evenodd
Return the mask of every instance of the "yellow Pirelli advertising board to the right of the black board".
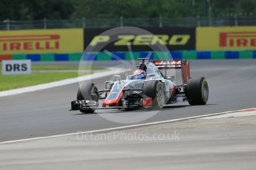
M 197 50 L 256 50 L 256 27 L 197 27 Z

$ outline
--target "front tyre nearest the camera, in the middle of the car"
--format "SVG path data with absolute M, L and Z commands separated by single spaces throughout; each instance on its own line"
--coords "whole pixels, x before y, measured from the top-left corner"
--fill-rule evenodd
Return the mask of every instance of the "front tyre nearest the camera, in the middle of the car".
M 152 109 L 162 109 L 165 105 L 164 86 L 161 81 L 145 81 L 143 95 L 152 98 Z

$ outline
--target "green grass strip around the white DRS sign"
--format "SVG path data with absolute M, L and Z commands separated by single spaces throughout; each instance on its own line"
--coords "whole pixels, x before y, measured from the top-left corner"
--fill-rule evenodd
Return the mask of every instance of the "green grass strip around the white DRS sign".
M 1 63 L 0 63 L 1 64 Z M 0 66 L 1 69 L 1 66 Z M 100 70 L 105 67 L 84 67 L 85 70 Z M 49 72 L 40 72 L 40 70 L 49 70 Z M 50 70 L 53 70 L 52 72 Z M 63 70 L 63 72 L 55 72 Z M 49 66 L 49 65 L 32 65 L 32 74 L 30 75 L 2 75 L 0 74 L 0 91 L 7 89 L 16 89 L 24 86 L 33 86 L 45 84 L 52 81 L 60 81 L 67 78 L 78 77 L 78 72 L 65 72 L 65 70 L 78 70 L 77 66 Z M 83 72 L 83 75 L 89 74 Z

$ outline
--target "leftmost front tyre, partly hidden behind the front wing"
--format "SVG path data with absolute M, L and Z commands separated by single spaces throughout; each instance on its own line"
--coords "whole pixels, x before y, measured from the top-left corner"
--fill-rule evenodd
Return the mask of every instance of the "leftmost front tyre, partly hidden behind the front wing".
M 96 88 L 96 86 L 93 83 L 89 83 L 89 84 L 83 83 L 78 89 L 76 99 L 78 101 L 85 100 L 85 101 L 96 101 L 96 102 L 98 102 L 99 99 L 96 95 L 96 91 L 98 91 L 98 89 Z M 83 112 L 83 113 L 93 113 L 95 110 L 93 110 L 93 109 L 79 109 L 79 111 Z

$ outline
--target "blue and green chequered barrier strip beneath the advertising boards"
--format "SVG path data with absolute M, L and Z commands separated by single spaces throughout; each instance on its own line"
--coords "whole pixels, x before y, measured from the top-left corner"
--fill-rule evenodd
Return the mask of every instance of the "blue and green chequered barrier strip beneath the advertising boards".
M 116 60 L 137 60 L 137 58 L 147 58 L 160 60 L 169 56 L 171 59 L 253 59 L 256 58 L 256 50 L 240 51 L 196 51 L 196 50 L 179 50 L 171 52 L 151 52 L 151 51 L 119 51 L 119 52 L 80 52 L 68 54 L 37 54 L 37 55 L 0 55 L 1 60 L 24 60 L 31 61 L 112 61 Z

